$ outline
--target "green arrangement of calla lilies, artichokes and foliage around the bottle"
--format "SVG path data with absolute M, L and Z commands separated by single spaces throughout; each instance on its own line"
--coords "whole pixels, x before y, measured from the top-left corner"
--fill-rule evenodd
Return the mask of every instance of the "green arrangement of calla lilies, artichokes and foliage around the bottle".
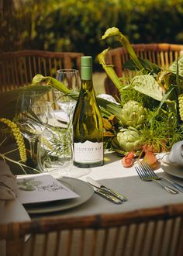
M 166 152 L 183 140 L 183 56 L 168 70 L 136 56 L 133 47 L 119 29 L 107 29 L 102 40 L 110 36 L 122 44 L 131 59 L 125 67 L 136 75 L 124 84 L 112 65 L 105 64 L 109 49 L 98 54 L 98 61 L 119 91 L 119 102 L 98 98 L 104 125 L 105 146 L 122 156 L 141 156 L 144 151 Z M 64 87 L 55 78 L 36 74 L 33 87 L 56 88 L 73 99 L 78 92 Z M 0 103 L 1 104 L 1 103 Z

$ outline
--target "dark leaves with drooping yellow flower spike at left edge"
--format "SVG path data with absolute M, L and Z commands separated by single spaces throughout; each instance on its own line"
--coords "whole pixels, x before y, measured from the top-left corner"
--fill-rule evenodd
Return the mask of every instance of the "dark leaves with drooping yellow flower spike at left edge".
M 0 159 L 6 161 L 13 172 L 37 173 L 29 158 L 29 146 L 16 125 L 16 100 L 25 91 L 46 93 L 49 87 L 37 85 L 17 88 L 0 94 Z

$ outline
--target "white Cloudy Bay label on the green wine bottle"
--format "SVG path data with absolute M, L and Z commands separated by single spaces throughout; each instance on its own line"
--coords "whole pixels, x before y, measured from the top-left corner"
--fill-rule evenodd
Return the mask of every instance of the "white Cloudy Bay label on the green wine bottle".
M 74 161 L 78 163 L 96 163 L 103 160 L 103 143 L 86 141 L 74 143 Z

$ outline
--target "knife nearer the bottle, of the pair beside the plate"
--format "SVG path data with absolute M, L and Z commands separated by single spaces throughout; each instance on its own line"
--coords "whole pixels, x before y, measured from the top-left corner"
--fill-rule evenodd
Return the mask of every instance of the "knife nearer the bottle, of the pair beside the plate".
M 102 190 L 103 192 L 108 193 L 109 195 L 115 196 L 117 199 L 121 200 L 122 202 L 127 201 L 126 196 L 120 194 L 119 192 L 116 192 L 116 191 L 113 190 L 113 189 L 109 189 L 109 188 L 105 187 L 105 185 L 100 184 L 99 182 L 95 181 L 94 179 L 92 179 L 92 178 L 90 178 L 90 177 L 87 177 L 86 180 L 87 180 L 87 182 L 88 182 L 89 184 L 91 184 L 91 185 L 94 186 L 95 188 L 100 189 L 100 190 Z

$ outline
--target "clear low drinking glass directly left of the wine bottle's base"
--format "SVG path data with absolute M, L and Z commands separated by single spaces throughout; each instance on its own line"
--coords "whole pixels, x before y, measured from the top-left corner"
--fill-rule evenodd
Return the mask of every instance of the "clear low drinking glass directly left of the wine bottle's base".
M 54 178 L 80 178 L 91 171 L 73 165 L 72 135 L 69 130 L 59 127 L 43 132 L 38 146 L 38 167 Z

